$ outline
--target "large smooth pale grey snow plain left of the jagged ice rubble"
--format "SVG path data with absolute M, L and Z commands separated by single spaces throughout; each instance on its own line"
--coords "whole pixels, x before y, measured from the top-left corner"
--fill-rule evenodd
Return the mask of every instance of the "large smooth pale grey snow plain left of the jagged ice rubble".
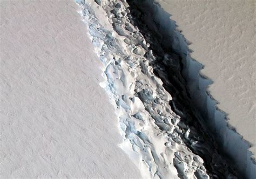
M 78 5 L 1 1 L 0 177 L 139 178 Z

